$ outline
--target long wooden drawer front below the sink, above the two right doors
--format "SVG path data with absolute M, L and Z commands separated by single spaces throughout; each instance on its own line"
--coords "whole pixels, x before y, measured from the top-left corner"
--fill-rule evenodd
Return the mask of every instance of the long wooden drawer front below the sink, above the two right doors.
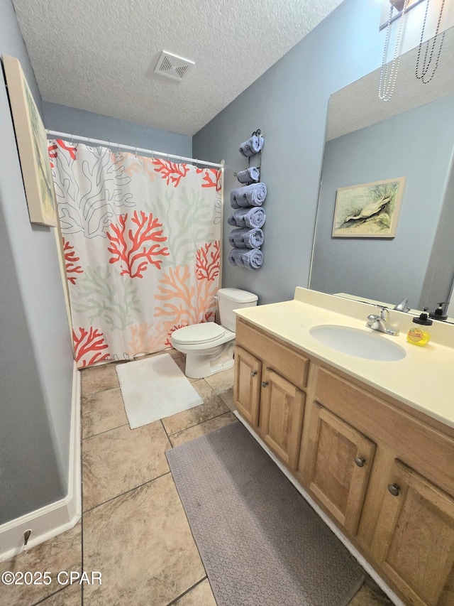
M 447 435 L 328 369 L 319 369 L 315 399 L 454 496 L 454 440 Z

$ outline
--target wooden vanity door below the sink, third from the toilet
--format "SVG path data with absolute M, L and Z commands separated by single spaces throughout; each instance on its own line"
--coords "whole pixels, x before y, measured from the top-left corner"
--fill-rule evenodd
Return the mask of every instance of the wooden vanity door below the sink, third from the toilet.
M 351 534 L 360 521 L 375 444 L 341 418 L 314 405 L 311 492 Z

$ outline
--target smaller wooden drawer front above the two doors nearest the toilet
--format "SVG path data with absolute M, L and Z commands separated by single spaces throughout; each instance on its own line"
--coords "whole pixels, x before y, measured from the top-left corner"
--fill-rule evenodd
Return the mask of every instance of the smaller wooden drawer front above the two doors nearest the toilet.
M 236 344 L 259 357 L 268 368 L 275 370 L 300 389 L 306 386 L 309 359 L 296 350 L 282 345 L 240 320 L 236 321 Z

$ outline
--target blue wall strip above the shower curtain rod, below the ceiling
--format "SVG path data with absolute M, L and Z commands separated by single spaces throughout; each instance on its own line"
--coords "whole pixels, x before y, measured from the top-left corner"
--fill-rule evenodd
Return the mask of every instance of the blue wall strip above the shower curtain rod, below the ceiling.
M 192 158 L 192 137 L 135 122 L 101 116 L 83 109 L 43 102 L 44 123 L 51 131 L 77 134 L 133 147 Z

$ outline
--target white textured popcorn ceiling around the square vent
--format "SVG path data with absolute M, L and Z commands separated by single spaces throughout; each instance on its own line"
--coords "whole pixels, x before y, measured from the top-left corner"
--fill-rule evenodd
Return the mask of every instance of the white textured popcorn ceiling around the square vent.
M 342 0 L 13 0 L 44 101 L 193 135 Z M 195 62 L 153 73 L 165 49 Z

